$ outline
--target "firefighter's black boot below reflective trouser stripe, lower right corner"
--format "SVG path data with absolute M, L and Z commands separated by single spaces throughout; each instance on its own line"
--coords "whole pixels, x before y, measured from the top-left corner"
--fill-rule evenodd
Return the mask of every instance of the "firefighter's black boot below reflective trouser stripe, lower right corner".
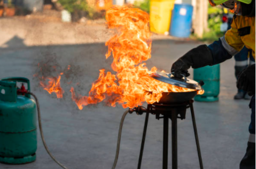
M 240 162 L 240 169 L 255 169 L 255 143 L 247 143 L 246 153 Z

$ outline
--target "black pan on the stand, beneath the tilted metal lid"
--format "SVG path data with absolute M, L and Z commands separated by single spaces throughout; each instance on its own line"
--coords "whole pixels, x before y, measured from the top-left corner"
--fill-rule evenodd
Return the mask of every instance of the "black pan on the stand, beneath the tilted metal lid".
M 174 104 L 184 103 L 193 99 L 197 94 L 197 91 L 192 92 L 162 92 L 162 97 L 158 104 Z

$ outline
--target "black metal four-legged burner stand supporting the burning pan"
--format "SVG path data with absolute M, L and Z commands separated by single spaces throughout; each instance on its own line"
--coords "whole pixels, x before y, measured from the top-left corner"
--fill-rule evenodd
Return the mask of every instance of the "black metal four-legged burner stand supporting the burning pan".
M 194 128 L 194 135 L 195 135 L 195 142 L 197 147 L 198 159 L 200 164 L 200 169 L 203 169 L 202 164 L 202 157 L 199 145 L 199 139 L 196 129 L 195 123 L 195 115 L 193 109 L 193 100 L 190 100 L 187 103 L 183 104 L 176 104 L 176 105 L 148 105 L 146 111 L 146 119 L 145 125 L 143 130 L 141 148 L 140 148 L 140 156 L 138 162 L 138 168 L 141 168 L 141 161 L 143 156 L 145 138 L 146 138 L 146 131 L 147 131 L 147 124 L 148 124 L 148 117 L 149 113 L 155 114 L 156 119 L 163 119 L 163 169 L 168 169 L 168 132 L 169 132 L 169 119 L 171 119 L 171 130 L 172 130 L 172 169 L 178 169 L 178 147 L 177 147 L 177 119 L 185 119 L 186 116 L 186 109 L 190 107 L 193 128 Z M 162 115 L 162 116 L 160 116 Z M 180 116 L 178 116 L 180 115 Z

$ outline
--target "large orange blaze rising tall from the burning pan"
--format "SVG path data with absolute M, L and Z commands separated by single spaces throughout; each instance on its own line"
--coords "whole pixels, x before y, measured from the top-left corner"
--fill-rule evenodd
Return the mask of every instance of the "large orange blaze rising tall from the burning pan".
M 92 84 L 88 96 L 76 95 L 71 87 L 72 99 L 80 110 L 83 106 L 103 100 L 112 107 L 118 103 L 124 108 L 131 108 L 142 105 L 144 101 L 149 104 L 158 102 L 162 92 L 194 91 L 148 76 L 157 69 L 153 67 L 148 70 L 146 64 L 142 63 L 151 58 L 152 41 L 146 12 L 127 6 L 113 6 L 106 12 L 106 20 L 110 29 L 117 30 L 105 44 L 108 46 L 106 59 L 113 56 L 111 68 L 116 74 L 100 70 L 99 78 Z M 198 94 L 202 93 L 203 91 L 198 91 Z

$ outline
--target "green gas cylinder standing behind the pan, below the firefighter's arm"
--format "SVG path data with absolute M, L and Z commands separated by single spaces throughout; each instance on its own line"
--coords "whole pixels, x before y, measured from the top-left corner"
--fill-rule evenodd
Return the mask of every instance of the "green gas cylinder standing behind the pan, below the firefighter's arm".
M 204 82 L 204 94 L 196 95 L 195 101 L 218 101 L 219 100 L 219 64 L 194 69 L 194 80 Z

